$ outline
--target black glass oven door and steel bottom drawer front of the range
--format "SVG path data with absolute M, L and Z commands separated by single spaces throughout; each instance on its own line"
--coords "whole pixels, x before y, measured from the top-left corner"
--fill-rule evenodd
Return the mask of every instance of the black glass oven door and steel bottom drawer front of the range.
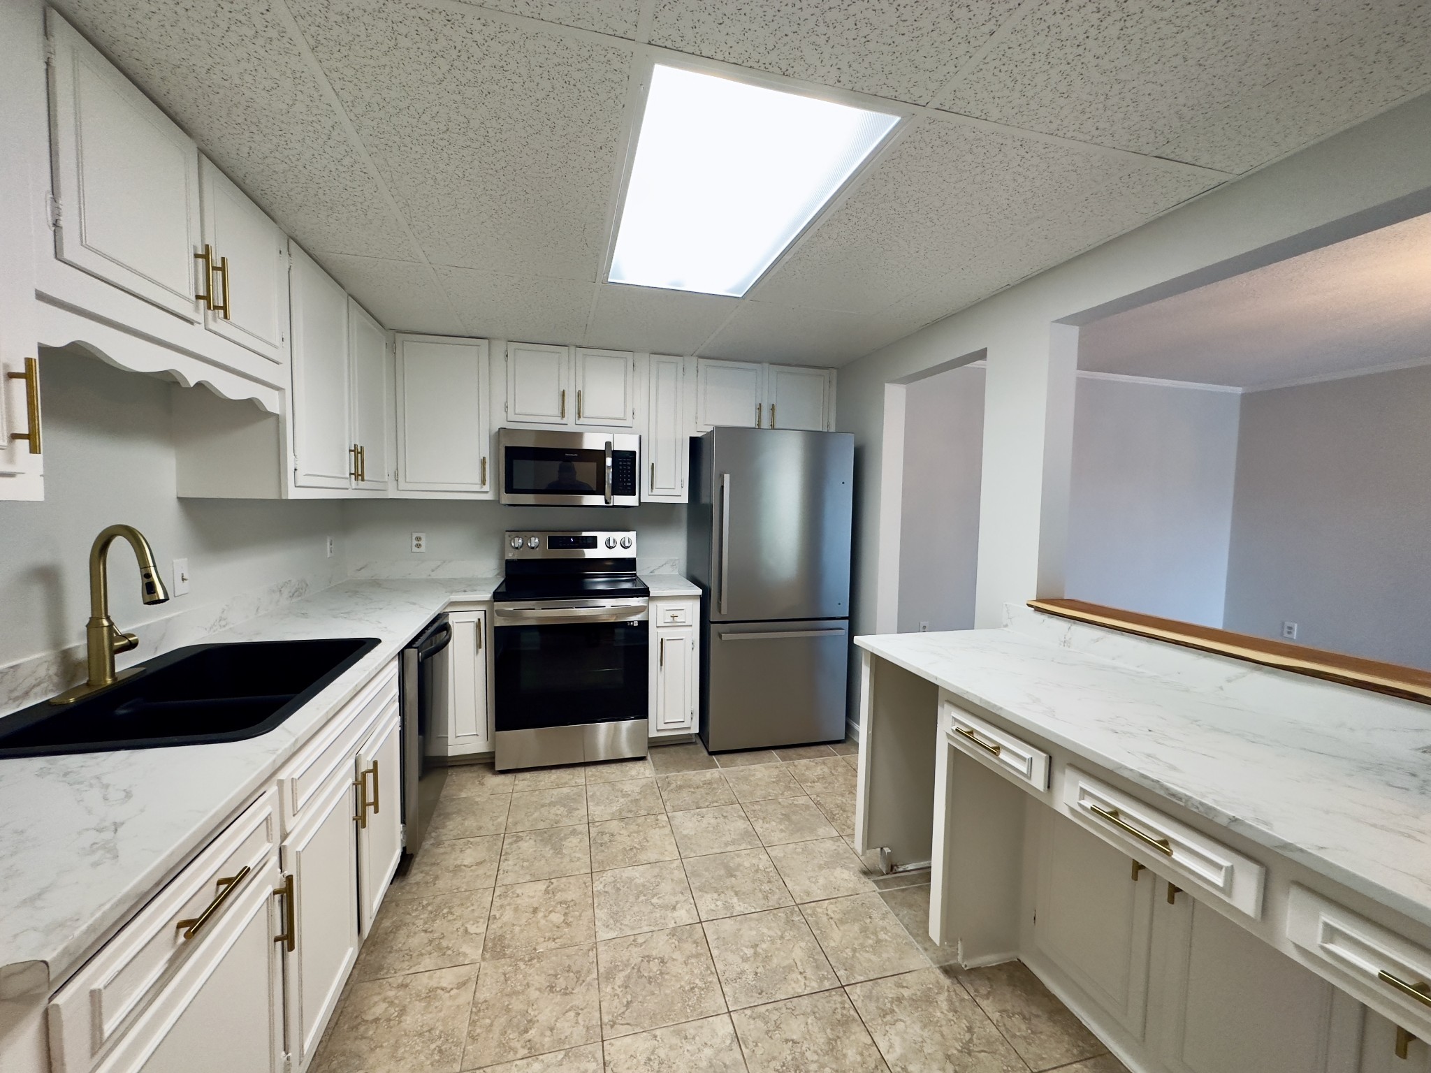
M 497 767 L 645 755 L 645 598 L 498 604 L 492 614 Z

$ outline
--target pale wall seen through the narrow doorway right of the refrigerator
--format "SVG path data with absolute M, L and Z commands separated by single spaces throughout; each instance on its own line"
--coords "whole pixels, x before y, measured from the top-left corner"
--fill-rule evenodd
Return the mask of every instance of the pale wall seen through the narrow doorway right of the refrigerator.
M 985 371 L 949 369 L 906 388 L 899 629 L 970 629 L 979 565 Z

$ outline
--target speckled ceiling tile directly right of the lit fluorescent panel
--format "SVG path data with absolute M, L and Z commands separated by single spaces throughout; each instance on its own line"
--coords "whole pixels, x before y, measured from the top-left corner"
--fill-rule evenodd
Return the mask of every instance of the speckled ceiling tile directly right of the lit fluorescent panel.
M 1092 222 L 1116 217 L 1102 225 L 1110 237 L 1132 226 L 1129 216 L 1152 216 L 1211 185 L 1093 147 L 917 123 L 753 298 L 873 313 L 956 273 L 992 292 L 1015 268 L 1030 270 L 1010 265 L 1005 245 L 1033 220 L 1066 220 L 1082 236 L 1085 222 L 1066 219 L 1078 206 Z M 1037 268 L 1053 256 L 1050 249 Z

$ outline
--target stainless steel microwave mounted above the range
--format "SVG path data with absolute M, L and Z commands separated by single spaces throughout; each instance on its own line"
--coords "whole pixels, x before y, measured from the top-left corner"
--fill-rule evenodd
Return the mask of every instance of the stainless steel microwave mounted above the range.
M 499 495 L 531 506 L 635 506 L 641 436 L 634 432 L 497 431 Z

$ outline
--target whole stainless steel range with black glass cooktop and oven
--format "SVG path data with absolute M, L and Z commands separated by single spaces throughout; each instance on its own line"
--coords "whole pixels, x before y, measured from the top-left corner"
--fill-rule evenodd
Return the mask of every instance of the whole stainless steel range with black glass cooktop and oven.
M 508 532 L 492 595 L 499 771 L 644 757 L 648 599 L 635 534 Z

